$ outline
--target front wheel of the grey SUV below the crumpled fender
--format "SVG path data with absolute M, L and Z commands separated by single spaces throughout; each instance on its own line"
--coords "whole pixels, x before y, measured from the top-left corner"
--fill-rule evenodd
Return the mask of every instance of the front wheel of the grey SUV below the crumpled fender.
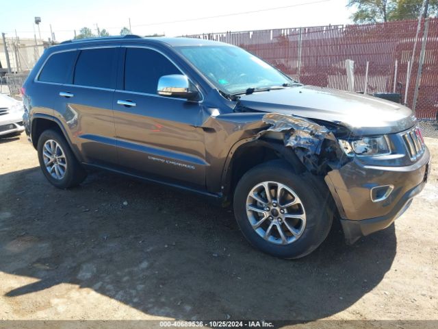
M 243 175 L 235 188 L 234 213 L 254 247 L 292 259 L 324 241 L 333 222 L 331 199 L 310 175 L 294 173 L 283 160 L 259 164 Z

